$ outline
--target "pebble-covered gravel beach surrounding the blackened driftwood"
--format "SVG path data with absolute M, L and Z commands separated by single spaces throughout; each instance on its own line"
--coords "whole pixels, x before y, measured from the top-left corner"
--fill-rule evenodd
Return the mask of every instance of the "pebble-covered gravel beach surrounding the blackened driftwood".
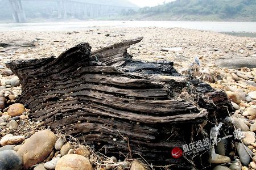
M 119 41 L 141 36 L 144 39 L 138 44 L 132 45 L 127 51 L 133 55 L 134 59 L 173 61 L 175 69 L 181 75 L 194 76 L 209 83 L 217 91 L 225 91 L 232 101 L 236 112 L 230 120 L 237 129 L 245 131 L 245 138 L 242 139 L 242 142 L 251 155 L 241 156 L 246 150 L 240 147 L 242 143 L 238 142 L 234 149 L 238 154 L 234 151 L 225 155 L 224 152 L 222 157 L 216 159 L 221 159 L 221 164 L 228 164 L 226 166 L 216 164 L 214 169 L 256 169 L 256 37 L 238 37 L 210 31 L 156 27 L 90 27 L 86 30 L 74 31 L 0 32 L 0 109 L 2 109 L 0 113 L 0 145 L 2 146 L 0 147 L 0 162 L 1 159 L 5 159 L 1 157 L 1 152 L 3 155 L 13 154 L 15 160 L 14 167 L 10 168 L 7 163 L 2 167 L 22 169 L 38 164 L 34 169 L 63 169 L 75 166 L 67 164 L 71 159 L 80 161 L 80 166 L 87 169 L 98 169 L 99 167 L 98 164 L 96 166 L 94 164 L 94 167 L 90 164 L 90 162 L 97 162 L 95 160 L 97 156 L 91 153 L 90 148 L 79 145 L 72 139 L 65 141 L 64 134 L 56 134 L 56 138 L 56 135 L 50 130 L 45 130 L 44 120 L 38 122 L 30 120 L 30 110 L 22 104 L 14 104 L 21 94 L 21 86 L 18 77 L 6 67 L 6 62 L 14 59 L 59 56 L 64 50 L 81 42 L 89 42 L 93 51 Z M 197 66 L 199 69 L 189 72 L 195 59 L 199 63 Z M 42 138 L 48 141 L 47 145 L 40 142 Z M 20 145 L 25 139 L 27 142 Z M 42 148 L 34 148 L 33 141 L 39 141 L 38 145 Z M 6 146 L 11 149 L 3 148 Z M 31 148 L 34 150 L 31 151 Z M 26 155 L 28 151 L 30 155 Z M 40 154 L 41 158 L 35 159 L 33 155 L 36 154 Z M 69 154 L 76 156 L 71 158 L 72 155 Z M 236 160 L 230 162 L 228 157 L 234 158 L 235 154 Z M 80 155 L 84 155 L 84 157 L 80 157 Z M 23 164 L 20 163 L 22 158 Z M 34 162 L 28 160 L 34 160 Z M 113 169 L 113 167 L 144 169 L 139 162 L 133 162 L 133 164 L 120 162 L 118 164 L 116 158 L 107 160 L 108 166 L 109 164 L 112 166 L 105 167 L 105 169 Z M 2 167 L 0 164 L 0 169 Z

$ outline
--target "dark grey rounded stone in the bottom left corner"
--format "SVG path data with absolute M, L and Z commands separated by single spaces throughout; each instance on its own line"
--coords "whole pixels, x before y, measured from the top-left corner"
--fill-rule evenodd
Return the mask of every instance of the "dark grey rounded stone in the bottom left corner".
M 0 169 L 21 170 L 22 158 L 13 150 L 0 151 Z

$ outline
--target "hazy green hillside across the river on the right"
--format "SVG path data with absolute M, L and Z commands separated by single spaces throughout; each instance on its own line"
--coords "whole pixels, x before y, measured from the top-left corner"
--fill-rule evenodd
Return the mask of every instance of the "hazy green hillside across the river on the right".
M 236 20 L 256 21 L 256 0 L 177 0 L 156 7 L 144 7 L 138 20 Z

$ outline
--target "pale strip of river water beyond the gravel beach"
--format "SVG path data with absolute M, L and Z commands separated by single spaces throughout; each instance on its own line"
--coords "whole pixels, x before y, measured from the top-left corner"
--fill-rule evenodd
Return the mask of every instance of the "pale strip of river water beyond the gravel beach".
M 188 28 L 214 32 L 256 32 L 256 22 L 84 21 L 0 24 L 0 31 L 71 31 L 90 27 Z

